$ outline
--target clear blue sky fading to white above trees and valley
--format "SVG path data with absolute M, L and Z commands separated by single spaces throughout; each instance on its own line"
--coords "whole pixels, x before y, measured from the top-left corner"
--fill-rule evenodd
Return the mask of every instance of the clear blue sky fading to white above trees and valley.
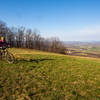
M 0 20 L 62 41 L 100 41 L 100 0 L 0 0 Z

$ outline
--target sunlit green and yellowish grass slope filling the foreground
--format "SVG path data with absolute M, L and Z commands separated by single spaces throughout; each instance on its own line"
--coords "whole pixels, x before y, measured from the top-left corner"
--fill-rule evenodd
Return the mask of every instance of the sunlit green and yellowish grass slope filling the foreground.
M 0 61 L 0 100 L 100 100 L 100 60 L 10 49 Z

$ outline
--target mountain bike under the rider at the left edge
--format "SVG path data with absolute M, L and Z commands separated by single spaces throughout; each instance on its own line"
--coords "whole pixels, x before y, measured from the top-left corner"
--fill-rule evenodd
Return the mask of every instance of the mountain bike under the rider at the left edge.
M 10 53 L 7 48 L 0 47 L 0 59 L 5 59 L 8 63 L 14 63 L 15 57 Z

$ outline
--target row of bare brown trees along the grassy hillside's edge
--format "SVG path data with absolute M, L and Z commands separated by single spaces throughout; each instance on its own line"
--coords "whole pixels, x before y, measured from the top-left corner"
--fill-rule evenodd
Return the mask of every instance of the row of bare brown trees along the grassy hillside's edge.
M 11 47 L 29 48 L 41 51 L 66 53 L 66 47 L 58 38 L 44 38 L 38 30 L 26 29 L 25 27 L 12 27 L 0 21 L 0 36 L 4 36 L 5 40 Z

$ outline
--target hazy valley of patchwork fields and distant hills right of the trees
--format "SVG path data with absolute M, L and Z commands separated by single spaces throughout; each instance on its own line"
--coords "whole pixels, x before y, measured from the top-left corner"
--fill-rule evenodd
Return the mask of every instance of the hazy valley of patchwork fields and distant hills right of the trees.
M 100 58 L 100 42 L 68 42 L 69 55 Z

